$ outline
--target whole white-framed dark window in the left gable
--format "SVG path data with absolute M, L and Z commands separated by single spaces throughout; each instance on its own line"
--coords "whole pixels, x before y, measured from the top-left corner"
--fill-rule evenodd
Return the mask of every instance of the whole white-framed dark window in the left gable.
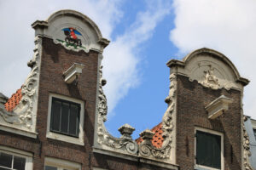
M 49 94 L 46 137 L 84 145 L 83 129 L 84 101 L 59 94 Z

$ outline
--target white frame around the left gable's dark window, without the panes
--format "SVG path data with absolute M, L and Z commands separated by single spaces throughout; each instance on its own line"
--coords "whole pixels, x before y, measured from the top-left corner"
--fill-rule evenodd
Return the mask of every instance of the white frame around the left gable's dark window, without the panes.
M 72 136 L 67 136 L 65 134 L 54 133 L 54 132 L 49 131 L 52 98 L 64 99 L 64 100 L 67 100 L 67 101 L 71 101 L 73 103 L 77 103 L 81 106 L 80 122 L 79 122 L 79 138 L 75 138 L 75 137 L 72 137 Z M 80 99 L 73 99 L 73 98 L 63 96 L 63 95 L 60 95 L 60 94 L 49 94 L 46 137 L 49 138 L 49 139 L 57 139 L 57 140 L 65 141 L 65 142 L 72 143 L 72 144 L 84 145 L 84 101 L 82 101 Z

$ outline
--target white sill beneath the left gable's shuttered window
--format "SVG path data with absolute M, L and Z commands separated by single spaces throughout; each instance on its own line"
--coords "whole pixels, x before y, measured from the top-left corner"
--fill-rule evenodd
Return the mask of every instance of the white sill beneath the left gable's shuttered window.
M 46 138 L 61 140 L 61 141 L 71 143 L 71 144 L 84 145 L 84 140 L 82 138 L 74 138 L 74 137 L 66 136 L 66 135 L 59 134 L 59 133 L 48 132 L 46 134 Z

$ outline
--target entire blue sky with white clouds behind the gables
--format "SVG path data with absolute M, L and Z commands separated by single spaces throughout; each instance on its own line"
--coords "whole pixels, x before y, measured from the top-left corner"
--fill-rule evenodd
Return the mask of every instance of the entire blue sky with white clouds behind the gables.
M 225 54 L 251 80 L 244 112 L 256 118 L 254 0 L 0 0 L 0 31 L 9 32 L 0 41 L 0 92 L 10 96 L 26 79 L 34 48 L 32 22 L 63 8 L 89 16 L 111 40 L 102 65 L 108 81 L 106 126 L 114 136 L 125 123 L 137 129 L 137 138 L 161 122 L 169 87 L 166 62 L 203 47 Z

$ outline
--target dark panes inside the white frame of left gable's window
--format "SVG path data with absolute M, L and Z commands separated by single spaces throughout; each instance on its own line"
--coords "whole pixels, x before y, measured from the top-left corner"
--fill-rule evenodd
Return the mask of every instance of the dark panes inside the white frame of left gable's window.
M 79 113 L 79 104 L 52 98 L 50 131 L 78 137 Z

